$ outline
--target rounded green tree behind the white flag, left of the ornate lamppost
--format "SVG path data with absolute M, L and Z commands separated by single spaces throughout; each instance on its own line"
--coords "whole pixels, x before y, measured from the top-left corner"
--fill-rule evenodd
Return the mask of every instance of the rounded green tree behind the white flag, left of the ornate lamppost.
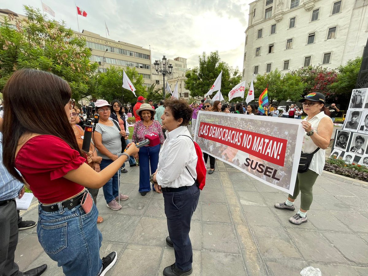
M 135 95 L 146 96 L 147 92 L 143 86 L 143 77 L 138 74 L 134 67 L 127 67 L 125 69 L 130 81 L 135 87 Z M 91 95 L 95 91 L 96 98 L 102 98 L 111 102 L 112 100 L 122 100 L 123 103 L 135 103 L 137 98 L 134 94 L 122 87 L 123 85 L 123 68 L 111 66 L 107 68 L 106 72 L 99 73 L 95 79 L 96 89 L 90 88 Z

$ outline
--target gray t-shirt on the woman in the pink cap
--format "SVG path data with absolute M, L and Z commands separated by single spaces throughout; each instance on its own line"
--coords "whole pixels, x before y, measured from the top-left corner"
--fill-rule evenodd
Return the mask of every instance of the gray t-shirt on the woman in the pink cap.
M 103 124 L 97 124 L 96 131 L 101 133 L 102 145 L 104 145 L 109 152 L 115 155 L 121 153 L 121 134 L 115 124 L 111 127 Z M 99 151 L 97 151 L 97 155 L 101 156 L 102 159 L 110 159 Z

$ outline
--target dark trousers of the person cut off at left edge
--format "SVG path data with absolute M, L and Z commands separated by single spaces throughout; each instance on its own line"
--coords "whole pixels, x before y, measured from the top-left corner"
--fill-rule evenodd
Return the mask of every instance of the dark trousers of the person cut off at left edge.
M 18 244 L 18 216 L 15 199 L 0 206 L 0 275 L 20 276 L 19 266 L 14 262 Z

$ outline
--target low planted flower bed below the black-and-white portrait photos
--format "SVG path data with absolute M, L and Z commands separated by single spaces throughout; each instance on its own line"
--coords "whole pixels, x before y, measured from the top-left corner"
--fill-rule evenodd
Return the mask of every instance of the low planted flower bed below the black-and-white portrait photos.
M 324 170 L 368 182 L 368 168 L 359 164 L 347 164 L 341 159 L 328 158 Z

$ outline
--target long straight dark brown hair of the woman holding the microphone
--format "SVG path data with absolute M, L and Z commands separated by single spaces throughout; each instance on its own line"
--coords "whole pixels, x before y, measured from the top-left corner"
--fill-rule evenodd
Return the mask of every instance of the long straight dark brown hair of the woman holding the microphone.
M 85 157 L 65 113 L 71 89 L 64 79 L 45 71 L 21 69 L 8 79 L 3 95 L 3 163 L 12 176 L 23 182 L 15 170 L 15 152 L 26 133 L 59 137 Z

